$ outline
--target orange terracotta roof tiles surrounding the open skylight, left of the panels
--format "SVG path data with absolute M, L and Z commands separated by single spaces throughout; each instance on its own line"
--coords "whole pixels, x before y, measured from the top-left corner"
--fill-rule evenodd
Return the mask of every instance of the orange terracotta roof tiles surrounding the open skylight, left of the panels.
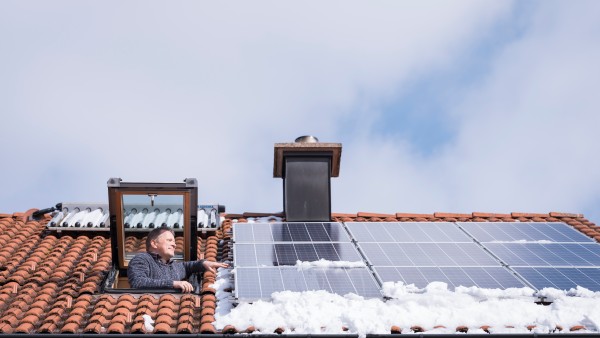
M 50 233 L 48 218 L 9 216 L 0 218 L 0 333 L 142 333 L 144 314 L 154 318 L 154 333 L 216 332 L 214 273 L 204 275 L 201 296 L 99 295 L 111 265 L 109 238 Z M 221 238 L 199 238 L 200 256 L 220 259 Z M 126 247 L 145 251 L 145 240 L 127 237 Z M 182 251 L 183 237 L 176 243 Z

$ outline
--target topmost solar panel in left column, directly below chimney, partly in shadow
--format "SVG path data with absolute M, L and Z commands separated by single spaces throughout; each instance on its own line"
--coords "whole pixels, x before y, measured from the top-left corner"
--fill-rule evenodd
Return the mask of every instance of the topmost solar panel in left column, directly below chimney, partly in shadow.
M 236 243 L 350 242 L 340 223 L 238 223 L 233 227 Z

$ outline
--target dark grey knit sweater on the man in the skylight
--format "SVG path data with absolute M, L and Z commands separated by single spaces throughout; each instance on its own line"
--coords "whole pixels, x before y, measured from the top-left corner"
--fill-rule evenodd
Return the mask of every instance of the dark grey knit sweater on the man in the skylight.
M 135 289 L 172 288 L 173 281 L 183 280 L 194 272 L 203 272 L 203 262 L 171 260 L 165 264 L 157 254 L 143 252 L 129 261 L 127 278 L 129 285 Z

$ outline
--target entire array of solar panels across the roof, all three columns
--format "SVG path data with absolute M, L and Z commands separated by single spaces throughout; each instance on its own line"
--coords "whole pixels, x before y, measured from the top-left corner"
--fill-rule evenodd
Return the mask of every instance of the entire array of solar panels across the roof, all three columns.
M 236 228 L 241 230 L 236 232 Z M 364 261 L 367 267 L 348 270 L 369 277 L 365 279 L 369 287 L 360 291 L 364 294 L 379 290 L 378 285 L 387 281 L 419 287 L 442 281 L 450 288 L 529 286 L 537 290 L 581 285 L 600 291 L 600 245 L 560 222 L 254 223 L 234 227 L 234 265 L 257 278 L 250 284 L 255 289 L 259 285 L 261 297 L 280 287 L 330 292 L 337 288 L 336 293 L 351 289 L 353 280 L 348 274 L 329 279 L 338 269 L 298 274 L 300 270 L 293 266 L 297 260 L 319 259 Z M 242 296 L 257 296 L 252 287 L 246 287 Z

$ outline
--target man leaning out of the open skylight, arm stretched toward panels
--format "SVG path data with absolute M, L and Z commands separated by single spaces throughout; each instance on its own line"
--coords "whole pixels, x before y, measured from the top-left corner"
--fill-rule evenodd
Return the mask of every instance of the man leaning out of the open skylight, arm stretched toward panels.
M 183 280 L 194 272 L 226 268 L 225 263 L 198 260 L 195 262 L 173 261 L 175 256 L 175 236 L 169 228 L 156 228 L 146 238 L 146 251 L 129 261 L 127 277 L 132 288 L 159 289 L 176 288 L 182 292 L 192 292 L 194 287 Z

